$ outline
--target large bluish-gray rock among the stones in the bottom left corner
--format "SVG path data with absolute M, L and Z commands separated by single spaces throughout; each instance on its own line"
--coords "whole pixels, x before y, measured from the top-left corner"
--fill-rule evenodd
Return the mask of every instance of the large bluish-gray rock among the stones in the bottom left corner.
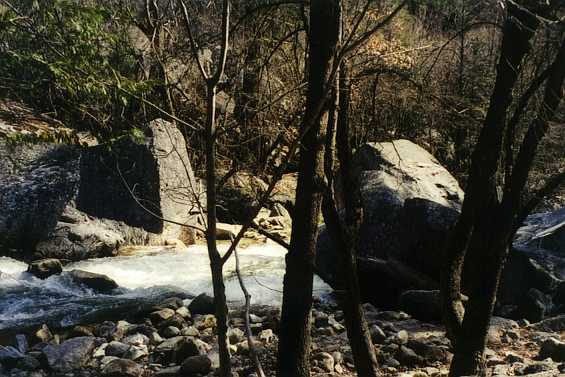
M 51 369 L 56 372 L 69 372 L 83 367 L 94 351 L 97 340 L 93 337 L 72 338 L 60 345 L 48 345 L 42 353 Z

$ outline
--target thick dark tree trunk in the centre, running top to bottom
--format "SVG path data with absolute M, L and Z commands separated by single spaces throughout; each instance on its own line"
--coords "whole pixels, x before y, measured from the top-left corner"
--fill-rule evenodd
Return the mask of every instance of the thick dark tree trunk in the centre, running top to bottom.
M 323 141 L 327 119 L 328 77 L 339 36 L 337 0 L 312 0 L 310 5 L 309 86 L 302 124 L 296 204 L 290 249 L 286 256 L 278 352 L 279 377 L 308 377 L 310 310 L 316 237 L 323 190 Z

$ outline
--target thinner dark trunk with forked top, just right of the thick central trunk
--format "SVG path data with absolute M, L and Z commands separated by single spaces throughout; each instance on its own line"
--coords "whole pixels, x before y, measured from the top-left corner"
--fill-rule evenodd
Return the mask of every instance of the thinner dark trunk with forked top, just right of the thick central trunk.
M 378 362 L 371 341 L 369 327 L 365 320 L 365 313 L 361 306 L 361 292 L 357 277 L 356 245 L 359 228 L 362 222 L 363 210 L 360 205 L 359 187 L 351 170 L 351 146 L 349 144 L 349 90 L 346 65 L 340 68 L 339 82 L 339 114 L 337 115 L 337 148 L 340 162 L 341 180 L 343 184 L 345 202 L 345 221 L 341 221 L 332 189 L 333 174 L 333 144 L 326 143 L 326 177 L 328 187 L 323 201 L 323 212 L 326 226 L 338 249 L 338 265 L 340 283 L 344 287 L 344 294 L 340 297 L 341 306 L 345 315 L 347 336 L 351 345 L 357 374 L 364 377 L 378 375 Z M 333 121 L 328 124 L 328 140 L 334 140 L 332 130 Z

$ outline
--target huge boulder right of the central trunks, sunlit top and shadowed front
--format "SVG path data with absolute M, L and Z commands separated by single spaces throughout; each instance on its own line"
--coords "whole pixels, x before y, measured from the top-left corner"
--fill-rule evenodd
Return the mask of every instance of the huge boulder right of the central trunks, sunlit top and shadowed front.
M 353 166 L 364 209 L 357 250 L 366 298 L 395 306 L 403 290 L 436 288 L 442 245 L 463 201 L 457 180 L 408 140 L 366 144 Z M 339 182 L 336 192 L 341 210 Z M 339 285 L 336 260 L 334 243 L 322 227 L 317 269 L 334 287 Z

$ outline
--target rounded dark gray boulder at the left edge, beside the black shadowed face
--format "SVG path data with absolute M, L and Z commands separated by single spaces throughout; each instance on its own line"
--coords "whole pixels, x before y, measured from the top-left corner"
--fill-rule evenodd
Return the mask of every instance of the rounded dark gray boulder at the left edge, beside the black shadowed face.
M 47 237 L 79 183 L 78 148 L 0 140 L 0 253 L 29 254 Z

